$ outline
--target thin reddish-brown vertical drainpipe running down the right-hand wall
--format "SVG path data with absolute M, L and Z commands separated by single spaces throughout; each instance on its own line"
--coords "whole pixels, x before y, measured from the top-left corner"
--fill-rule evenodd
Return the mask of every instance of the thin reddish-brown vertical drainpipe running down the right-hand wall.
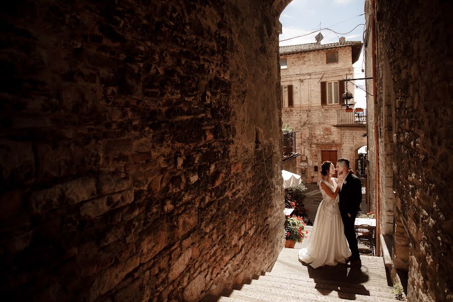
M 378 110 L 376 110 L 376 105 L 378 105 L 378 72 L 376 70 L 376 36 L 375 36 L 375 29 L 374 29 L 374 0 L 371 0 L 371 41 L 372 41 L 372 64 L 373 64 L 373 100 L 374 100 L 374 162 L 375 162 L 375 188 L 376 188 L 376 234 L 374 235 L 374 239 L 376 241 L 376 255 L 381 252 L 380 249 L 380 235 L 381 235 L 381 228 L 380 228 L 380 220 L 381 220 L 381 211 L 379 205 L 379 128 L 378 128 Z M 378 252 L 379 251 L 379 252 Z

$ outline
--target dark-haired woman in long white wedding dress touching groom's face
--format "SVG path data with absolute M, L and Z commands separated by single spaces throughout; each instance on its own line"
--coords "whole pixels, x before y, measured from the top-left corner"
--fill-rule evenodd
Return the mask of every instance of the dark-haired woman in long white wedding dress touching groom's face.
M 346 259 L 351 256 L 338 204 L 338 192 L 344 176 L 338 179 L 331 177 L 335 175 L 335 167 L 329 161 L 321 166 L 321 174 L 323 179 L 319 189 L 323 201 L 318 207 L 307 248 L 299 250 L 299 261 L 309 263 L 313 268 L 346 263 Z

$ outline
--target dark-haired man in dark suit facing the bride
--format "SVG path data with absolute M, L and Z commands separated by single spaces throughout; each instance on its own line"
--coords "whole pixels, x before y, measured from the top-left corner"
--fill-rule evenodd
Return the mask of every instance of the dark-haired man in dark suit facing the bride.
M 362 202 L 362 182 L 357 176 L 349 172 L 349 161 L 347 159 L 341 158 L 337 161 L 337 172 L 338 175 L 347 174 L 340 186 L 340 213 L 344 224 L 344 235 L 348 240 L 352 254 L 349 260 L 351 263 L 359 262 L 360 256 L 355 237 L 354 222 Z

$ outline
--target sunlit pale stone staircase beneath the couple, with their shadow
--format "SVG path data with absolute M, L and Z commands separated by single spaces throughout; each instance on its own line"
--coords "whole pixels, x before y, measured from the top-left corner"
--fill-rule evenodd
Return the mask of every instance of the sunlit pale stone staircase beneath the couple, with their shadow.
M 361 255 L 361 266 L 339 264 L 315 270 L 298 261 L 304 245 L 283 249 L 271 272 L 203 301 L 395 301 L 382 257 Z

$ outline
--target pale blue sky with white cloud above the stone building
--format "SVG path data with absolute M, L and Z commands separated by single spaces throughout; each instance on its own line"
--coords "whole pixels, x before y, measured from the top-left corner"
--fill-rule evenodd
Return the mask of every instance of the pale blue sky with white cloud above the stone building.
M 321 28 L 330 28 L 338 33 L 349 32 L 356 25 L 365 23 L 364 15 L 356 17 L 363 14 L 363 11 L 364 0 L 293 0 L 280 15 L 283 31 L 283 34 L 280 35 L 280 40 L 316 31 L 320 28 L 320 23 Z M 346 37 L 346 41 L 363 42 L 363 29 L 364 26 L 360 25 L 349 34 L 338 36 Z M 282 41 L 280 46 L 316 42 L 315 36 L 318 33 L 319 31 L 305 37 Z M 338 42 L 338 37 L 335 33 L 329 30 L 322 30 L 321 33 L 324 36 L 321 44 Z M 361 72 L 361 69 L 364 68 L 362 63 L 363 48 L 359 59 L 353 65 L 355 78 L 364 77 Z M 365 89 L 365 81 L 355 81 L 355 84 Z M 353 93 L 356 107 L 365 108 L 365 92 L 354 88 Z

